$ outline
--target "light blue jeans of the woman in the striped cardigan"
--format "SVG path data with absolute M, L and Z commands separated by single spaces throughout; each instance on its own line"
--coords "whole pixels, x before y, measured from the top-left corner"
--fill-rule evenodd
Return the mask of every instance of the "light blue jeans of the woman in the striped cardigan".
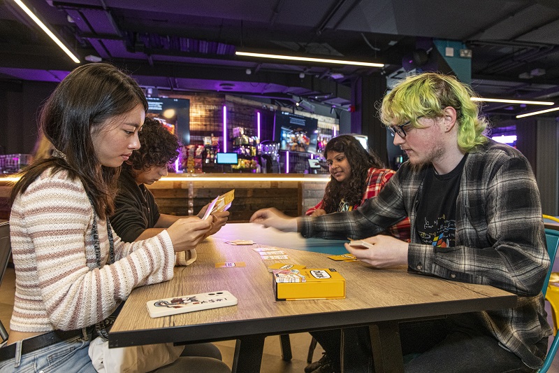
M 89 340 L 75 337 L 25 355 L 16 352 L 14 358 L 0 362 L 0 373 L 95 373 L 88 350 Z M 16 348 L 16 351 L 20 349 Z

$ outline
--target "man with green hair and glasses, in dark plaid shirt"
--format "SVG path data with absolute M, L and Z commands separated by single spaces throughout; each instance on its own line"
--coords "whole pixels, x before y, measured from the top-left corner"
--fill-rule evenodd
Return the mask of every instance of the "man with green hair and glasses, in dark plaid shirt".
M 472 95 L 451 76 L 407 78 L 386 94 L 380 117 L 408 161 L 376 198 L 355 211 L 316 218 L 289 218 L 273 209 L 251 218 L 304 237 L 365 239 L 374 248 L 346 248 L 374 267 L 407 265 L 412 273 L 518 295 L 512 309 L 402 323 L 402 352 L 412 358 L 405 372 L 535 372 L 546 356 L 551 328 L 541 290 L 549 256 L 539 191 L 528 160 L 484 136 L 486 121 Z M 411 223 L 409 244 L 370 237 L 405 216 Z M 362 353 L 367 363 L 367 328 L 354 343 L 351 361 Z M 330 367 L 314 372 L 340 369 L 339 348 L 326 353 Z M 356 371 L 366 370 L 361 365 Z

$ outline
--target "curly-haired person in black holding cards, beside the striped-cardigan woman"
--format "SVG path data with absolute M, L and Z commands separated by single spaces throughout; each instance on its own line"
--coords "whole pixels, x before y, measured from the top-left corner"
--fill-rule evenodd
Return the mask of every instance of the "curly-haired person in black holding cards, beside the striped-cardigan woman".
M 177 136 L 156 119 L 146 117 L 142 131 L 138 134 L 140 149 L 134 150 L 129 159 L 122 164 L 119 177 L 119 192 L 115 199 L 115 213 L 110 218 L 112 227 L 123 241 L 133 242 L 154 237 L 184 216 L 159 213 L 152 192 L 145 185 L 152 185 L 167 175 L 167 164 L 178 157 L 180 146 Z M 204 206 L 198 213 L 202 217 Z M 223 211 L 213 214 L 212 228 L 206 235 L 214 234 L 225 225 L 229 213 Z M 182 254 L 182 253 L 181 253 Z M 181 265 L 196 260 L 196 251 L 187 251 L 188 258 Z

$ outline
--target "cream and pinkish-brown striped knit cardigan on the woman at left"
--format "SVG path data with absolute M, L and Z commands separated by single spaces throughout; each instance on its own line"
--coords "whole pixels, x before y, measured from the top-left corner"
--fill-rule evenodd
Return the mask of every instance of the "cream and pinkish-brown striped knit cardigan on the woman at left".
M 47 170 L 18 195 L 10 216 L 15 265 L 12 330 L 74 330 L 103 320 L 133 288 L 173 278 L 175 253 L 167 232 L 133 244 L 115 237 L 108 261 L 105 220 L 97 218 L 101 268 L 97 268 L 94 211 L 82 183 L 65 171 Z

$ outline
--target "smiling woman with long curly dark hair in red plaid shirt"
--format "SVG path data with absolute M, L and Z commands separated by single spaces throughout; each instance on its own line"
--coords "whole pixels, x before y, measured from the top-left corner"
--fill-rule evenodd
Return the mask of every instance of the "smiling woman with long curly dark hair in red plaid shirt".
M 375 197 L 395 174 L 385 169 L 378 155 L 367 151 L 351 135 L 336 136 L 326 144 L 324 156 L 330 169 L 331 181 L 326 185 L 321 202 L 307 210 L 307 216 L 351 211 Z M 388 232 L 409 240 L 409 219 L 389 227 Z

